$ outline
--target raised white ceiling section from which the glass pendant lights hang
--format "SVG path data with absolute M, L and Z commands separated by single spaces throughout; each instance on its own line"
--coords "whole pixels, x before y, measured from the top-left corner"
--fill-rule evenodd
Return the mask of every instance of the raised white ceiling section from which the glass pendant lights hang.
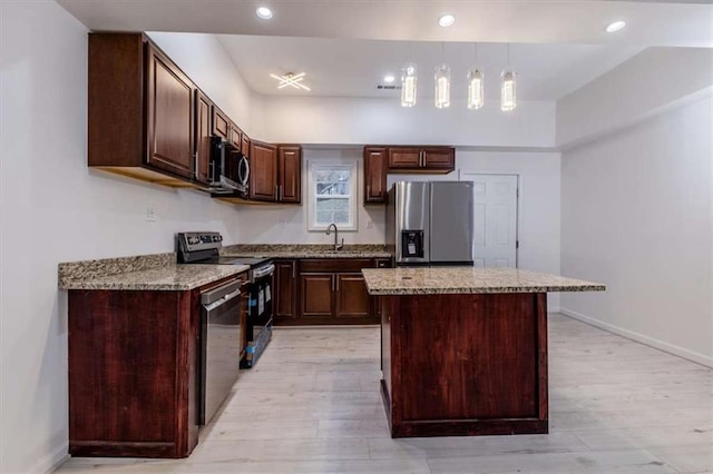
M 250 87 L 264 95 L 331 97 L 398 97 L 398 90 L 378 89 L 391 73 L 399 78 L 408 60 L 418 68 L 419 97 L 432 97 L 433 71 L 451 68 L 451 97 L 466 97 L 466 75 L 476 63 L 476 43 L 408 42 L 322 38 L 222 34 L 225 46 Z M 486 97 L 499 96 L 499 76 L 507 65 L 505 43 L 478 43 L 478 68 L 486 75 Z M 642 47 L 603 45 L 511 45 L 510 66 L 518 77 L 518 97 L 557 100 L 603 71 L 641 51 Z M 270 73 L 306 71 L 312 92 L 277 90 Z M 398 79 L 397 79 L 398 82 Z

